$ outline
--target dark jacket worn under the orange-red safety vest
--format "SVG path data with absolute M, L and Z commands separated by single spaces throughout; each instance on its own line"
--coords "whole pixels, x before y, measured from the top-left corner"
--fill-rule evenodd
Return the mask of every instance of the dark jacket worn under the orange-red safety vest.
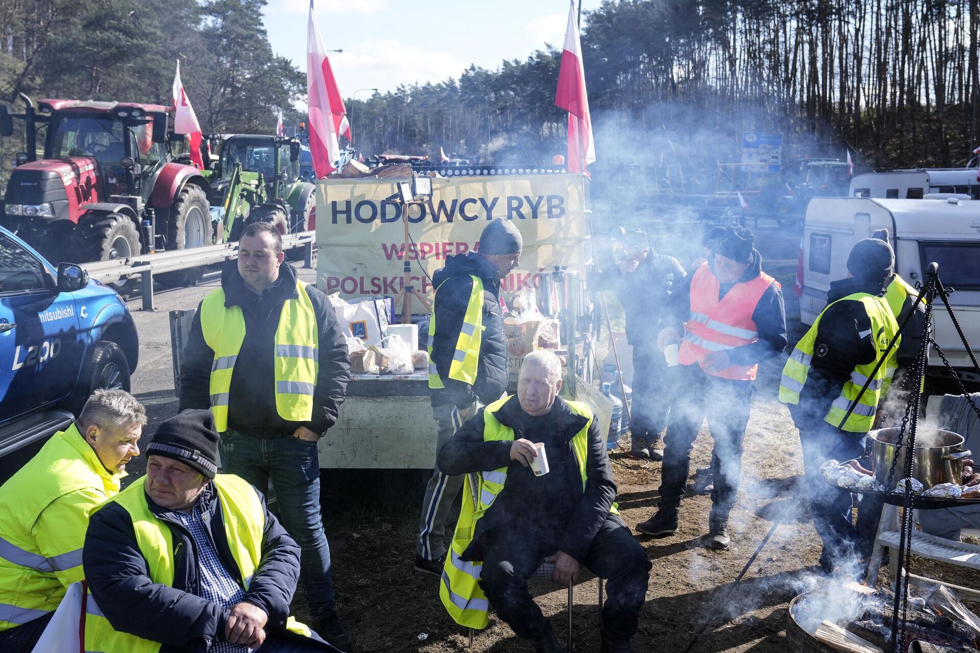
M 708 261 L 712 274 L 714 273 L 713 258 L 709 257 Z M 752 264 L 737 283 L 751 281 L 758 277 L 761 271 L 762 257 L 754 250 Z M 683 279 L 674 281 L 673 292 L 667 300 L 667 310 L 663 319 L 663 326 L 673 326 L 682 336 L 684 322 L 691 313 L 691 281 L 694 279 L 695 272 L 696 270 L 691 270 L 691 273 Z M 720 301 L 734 287 L 735 284 L 720 286 L 718 300 Z M 752 311 L 752 321 L 756 323 L 759 330 L 759 340 L 750 345 L 728 350 L 728 359 L 733 365 L 760 363 L 786 349 L 786 344 L 789 342 L 786 335 L 786 308 L 783 304 L 783 291 L 775 282 L 770 283 L 762 293 L 756 309 Z

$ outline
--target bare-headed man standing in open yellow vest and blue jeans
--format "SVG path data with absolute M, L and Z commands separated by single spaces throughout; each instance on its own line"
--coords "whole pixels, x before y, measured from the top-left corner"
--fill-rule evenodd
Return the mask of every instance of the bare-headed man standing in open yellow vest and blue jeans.
M 342 650 L 351 638 L 334 609 L 330 547 L 319 509 L 317 442 L 337 419 L 350 362 L 333 306 L 283 265 L 270 222 L 248 224 L 238 260 L 198 307 L 180 368 L 180 409 L 210 408 L 221 466 L 275 488 L 279 514 L 303 547 L 314 627 Z

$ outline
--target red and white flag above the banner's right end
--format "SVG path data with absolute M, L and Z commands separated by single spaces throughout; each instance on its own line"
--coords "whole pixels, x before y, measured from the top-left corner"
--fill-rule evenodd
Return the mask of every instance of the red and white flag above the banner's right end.
M 596 144 L 592 140 L 592 117 L 585 92 L 582 44 L 578 38 L 575 14 L 575 2 L 572 0 L 568 9 L 568 27 L 564 33 L 555 104 L 568 112 L 568 171 L 586 172 L 586 166 L 596 161 Z

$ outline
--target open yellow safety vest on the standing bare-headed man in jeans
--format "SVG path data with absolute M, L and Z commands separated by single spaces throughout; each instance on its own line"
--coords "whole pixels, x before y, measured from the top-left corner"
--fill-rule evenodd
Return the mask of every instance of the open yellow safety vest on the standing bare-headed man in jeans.
M 298 298 L 282 303 L 275 330 L 275 407 L 290 422 L 313 418 L 313 393 L 319 371 L 317 313 L 307 294 L 307 283 L 296 281 Z M 231 373 L 245 340 L 245 318 L 239 305 L 225 307 L 224 291 L 212 291 L 201 303 L 201 331 L 215 352 L 211 365 L 211 412 L 215 428 L 228 428 Z

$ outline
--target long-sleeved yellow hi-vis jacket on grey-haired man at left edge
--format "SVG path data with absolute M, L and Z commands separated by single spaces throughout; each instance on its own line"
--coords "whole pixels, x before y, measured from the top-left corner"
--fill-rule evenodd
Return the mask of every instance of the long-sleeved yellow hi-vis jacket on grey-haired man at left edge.
M 57 609 L 68 586 L 85 578 L 88 515 L 120 490 L 122 477 L 72 425 L 0 487 L 0 631 Z

